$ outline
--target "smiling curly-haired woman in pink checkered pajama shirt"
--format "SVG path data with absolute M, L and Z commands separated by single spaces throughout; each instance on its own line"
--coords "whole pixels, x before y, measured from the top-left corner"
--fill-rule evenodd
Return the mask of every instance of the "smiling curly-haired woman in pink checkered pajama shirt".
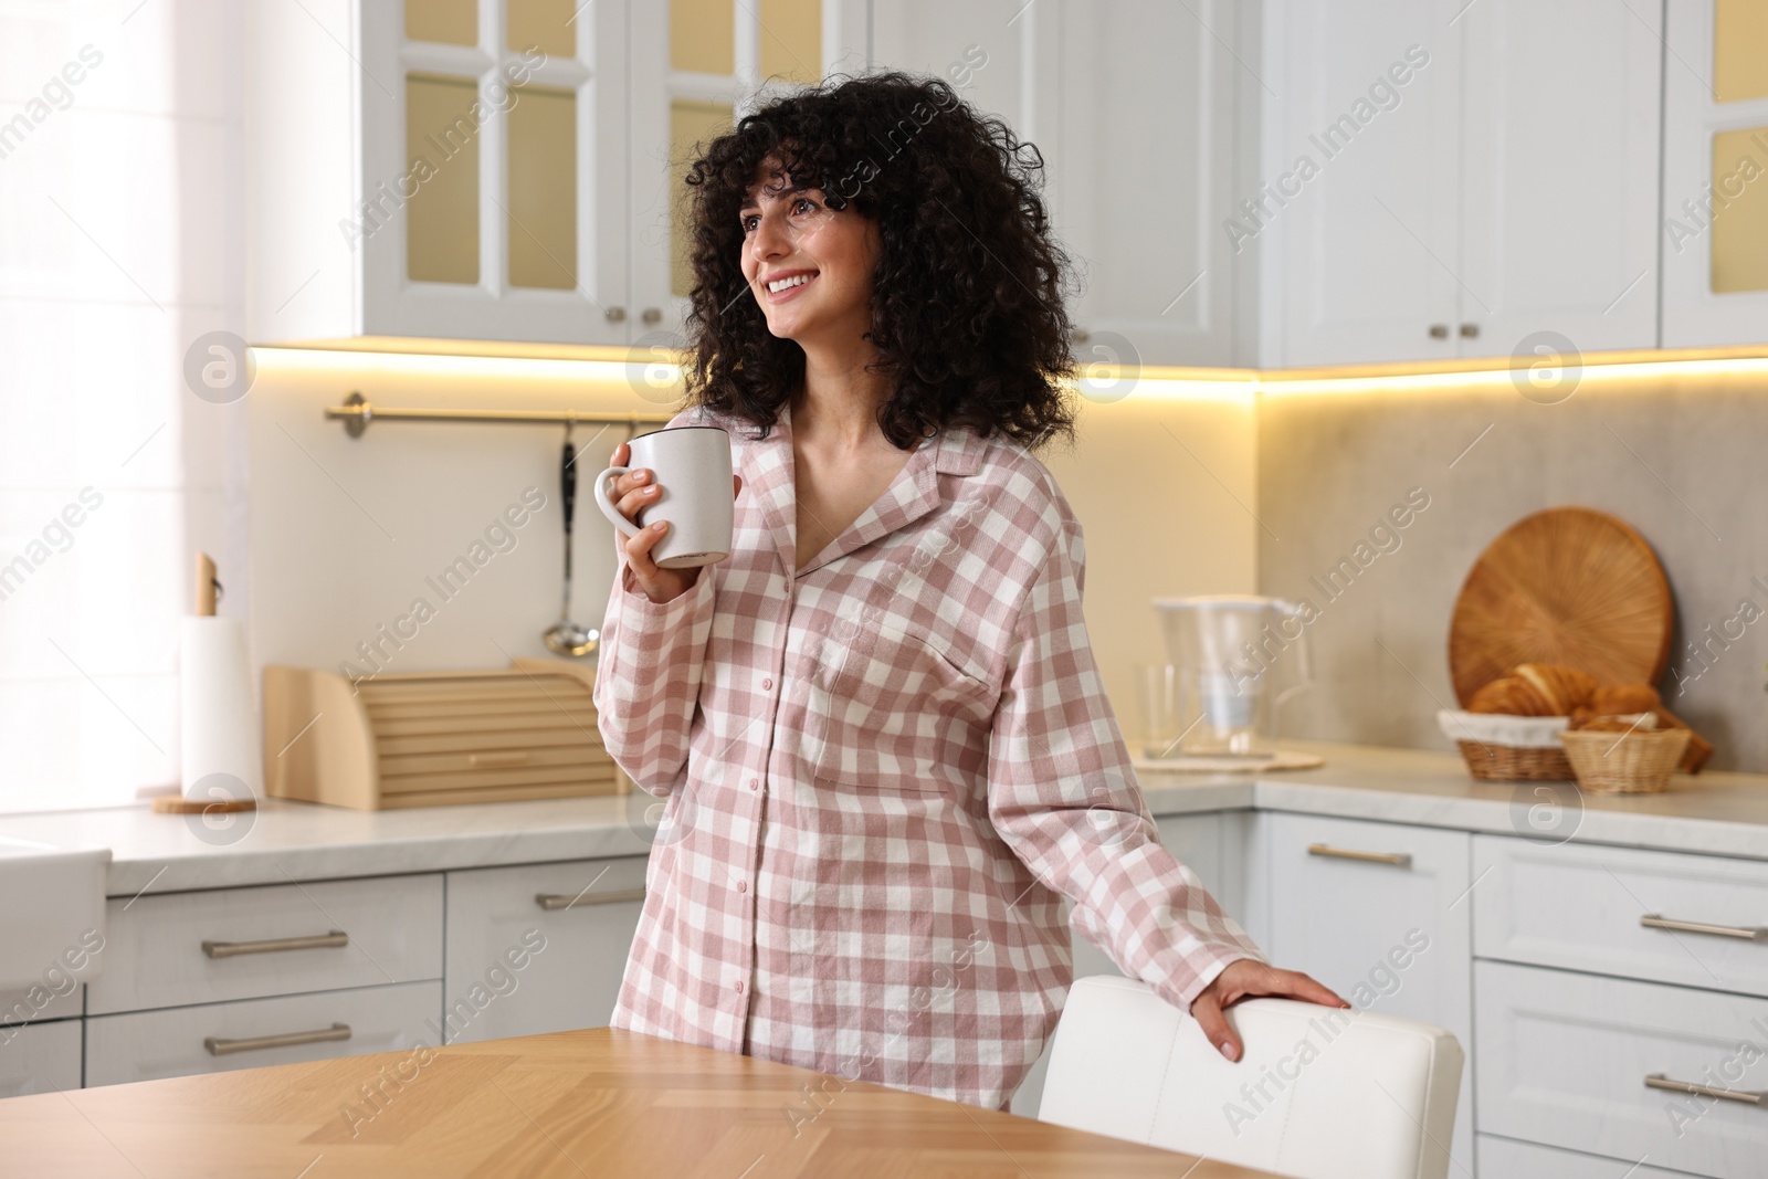
M 596 705 L 668 799 L 615 1027 L 1006 1107 L 1075 926 L 1236 1059 L 1271 969 L 1162 848 L 1080 613 L 1066 258 L 1036 148 L 935 80 L 780 99 L 691 186 L 675 422 L 730 431 L 735 539 L 619 544 Z M 613 461 L 626 463 L 626 447 Z M 619 477 L 629 520 L 651 472 Z

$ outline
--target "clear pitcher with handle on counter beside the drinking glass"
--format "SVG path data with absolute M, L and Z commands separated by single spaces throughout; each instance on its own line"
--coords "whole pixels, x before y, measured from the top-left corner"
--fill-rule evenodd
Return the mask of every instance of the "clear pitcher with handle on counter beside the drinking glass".
M 1278 597 L 1155 599 L 1176 668 L 1183 737 L 1197 757 L 1271 757 L 1278 709 L 1314 679 L 1307 622 Z

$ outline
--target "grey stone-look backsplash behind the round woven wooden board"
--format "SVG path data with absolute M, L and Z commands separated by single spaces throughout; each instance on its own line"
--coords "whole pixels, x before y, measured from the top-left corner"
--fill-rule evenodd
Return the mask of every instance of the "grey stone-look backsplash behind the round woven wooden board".
M 1261 398 L 1259 587 L 1321 608 L 1308 628 L 1319 682 L 1292 702 L 1285 735 L 1450 748 L 1436 711 L 1455 707 L 1448 622 L 1462 580 L 1522 516 L 1581 506 L 1630 523 L 1664 564 L 1676 599 L 1658 684 L 1667 707 L 1718 746 L 1713 769 L 1768 771 L 1768 624 L 1734 622 L 1740 636 L 1713 640 L 1704 668 L 1688 647 L 1738 619 L 1743 599 L 1768 612 L 1763 377 L 1589 369 L 1558 405 L 1490 378 L 1444 384 L 1276 385 Z M 1310 578 L 1367 541 L 1411 488 L 1429 507 L 1328 599 Z

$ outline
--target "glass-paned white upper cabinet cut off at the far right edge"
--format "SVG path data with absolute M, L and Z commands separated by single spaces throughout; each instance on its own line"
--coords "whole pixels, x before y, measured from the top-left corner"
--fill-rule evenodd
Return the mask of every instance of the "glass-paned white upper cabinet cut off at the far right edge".
M 1768 19 L 1669 0 L 1664 346 L 1768 341 Z

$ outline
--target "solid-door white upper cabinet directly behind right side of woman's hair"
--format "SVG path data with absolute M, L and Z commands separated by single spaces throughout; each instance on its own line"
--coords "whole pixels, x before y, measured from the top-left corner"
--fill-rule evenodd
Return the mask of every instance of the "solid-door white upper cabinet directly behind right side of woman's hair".
M 1255 124 L 1241 113 L 1243 19 L 1227 0 L 873 7 L 875 65 L 939 74 L 1036 145 L 1080 281 L 1070 315 L 1084 366 L 1252 359 L 1234 332 L 1252 256 L 1222 233 Z

